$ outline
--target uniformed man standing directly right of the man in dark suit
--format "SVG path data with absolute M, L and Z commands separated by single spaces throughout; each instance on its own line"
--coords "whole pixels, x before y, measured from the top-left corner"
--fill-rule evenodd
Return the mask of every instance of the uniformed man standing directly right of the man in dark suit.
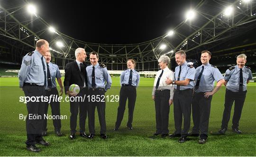
M 106 135 L 106 120 L 105 120 L 105 108 L 106 102 L 103 97 L 105 97 L 105 92 L 110 89 L 112 80 L 110 74 L 104 64 L 99 64 L 99 55 L 97 52 L 90 53 L 91 65 L 86 67 L 87 80 L 89 87 L 89 107 L 88 107 L 88 117 L 89 117 L 89 131 L 90 135 L 88 138 L 92 139 L 95 135 L 95 107 L 97 107 L 99 121 L 101 125 L 100 136 L 102 139 L 107 139 Z M 106 84 L 105 84 L 106 82 Z M 98 98 L 100 99 L 98 99 Z M 95 99 L 94 99 L 95 98 Z M 103 99 L 103 100 L 102 100 Z

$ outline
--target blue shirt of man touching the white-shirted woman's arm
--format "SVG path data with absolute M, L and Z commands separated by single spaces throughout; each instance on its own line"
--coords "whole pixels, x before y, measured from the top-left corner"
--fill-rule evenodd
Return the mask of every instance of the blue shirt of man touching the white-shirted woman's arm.
M 180 71 L 180 66 L 177 66 L 175 68 L 175 80 L 178 80 L 179 71 Z M 187 61 L 185 61 L 184 64 L 182 65 L 180 81 L 185 80 L 186 78 L 189 78 L 192 81 L 190 81 L 187 86 L 180 86 L 180 90 L 192 89 L 194 87 L 193 80 L 195 78 L 195 68 L 193 66 L 190 66 L 187 63 Z M 175 89 L 177 89 L 177 85 L 175 85 Z

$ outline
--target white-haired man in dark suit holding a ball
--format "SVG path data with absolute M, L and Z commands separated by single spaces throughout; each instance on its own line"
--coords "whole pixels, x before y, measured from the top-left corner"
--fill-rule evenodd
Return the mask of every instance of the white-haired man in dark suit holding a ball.
M 65 79 L 64 79 L 64 87 L 65 94 L 68 94 L 71 98 L 72 96 L 82 96 L 86 95 L 87 88 L 87 74 L 86 74 L 86 64 L 84 63 L 86 59 L 86 52 L 83 48 L 77 48 L 75 50 L 76 60 L 70 62 L 65 67 Z M 71 91 L 68 90 L 69 86 L 72 84 L 76 84 L 80 87 L 80 92 L 77 95 L 74 95 Z M 77 115 L 79 111 L 79 126 L 80 126 L 80 136 L 86 138 L 85 134 L 85 120 L 87 116 L 87 103 L 82 102 L 79 99 L 75 99 L 75 101 L 70 101 L 70 139 L 75 139 L 76 133 L 76 122 Z

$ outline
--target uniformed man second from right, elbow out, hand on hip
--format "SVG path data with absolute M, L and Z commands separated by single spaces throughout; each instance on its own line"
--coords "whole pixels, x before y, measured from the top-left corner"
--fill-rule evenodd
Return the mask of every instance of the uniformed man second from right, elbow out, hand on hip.
M 224 78 L 219 69 L 209 63 L 211 52 L 201 52 L 202 65 L 196 68 L 195 87 L 192 98 L 192 118 L 194 127 L 189 136 L 199 138 L 199 143 L 204 144 L 208 137 L 208 126 L 210 117 L 210 103 L 212 95 L 216 93 L 224 83 Z M 217 85 L 214 88 L 214 82 Z M 214 88 L 214 89 L 213 89 Z

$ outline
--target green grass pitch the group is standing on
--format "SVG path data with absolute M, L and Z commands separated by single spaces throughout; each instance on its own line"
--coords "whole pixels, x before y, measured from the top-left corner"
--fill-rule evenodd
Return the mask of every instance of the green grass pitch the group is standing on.
M 64 79 L 64 77 L 63 77 Z M 112 78 L 112 88 L 106 95 L 119 95 L 119 78 Z M 137 88 L 133 131 L 126 128 L 128 107 L 119 131 L 114 132 L 118 102 L 107 102 L 107 140 L 99 137 L 100 126 L 95 114 L 96 137 L 93 140 L 77 136 L 69 140 L 69 103 L 61 103 L 61 114 L 68 119 L 62 121 L 64 137 L 56 137 L 51 120 L 48 120 L 48 136 L 44 139 L 51 146 L 41 148 L 40 153 L 26 150 L 25 121 L 19 114 L 27 114 L 26 105 L 19 102 L 24 93 L 18 87 L 18 78 L 0 78 L 0 156 L 256 156 L 256 83 L 249 83 L 239 129 L 243 134 L 231 131 L 233 109 L 226 135 L 216 135 L 221 125 L 224 109 L 225 87 L 213 96 L 211 103 L 209 138 L 206 144 L 198 144 L 197 138 L 178 143 L 178 138 L 148 138 L 155 132 L 155 106 L 151 99 L 154 78 L 141 78 Z M 233 107 L 234 108 L 234 107 Z M 49 107 L 48 113 L 51 113 Z M 193 124 L 191 121 L 191 128 Z M 77 128 L 79 130 L 79 128 Z M 170 133 L 174 131 L 173 105 L 170 107 Z M 212 132 L 212 133 L 211 133 Z M 88 134 L 88 119 L 86 119 Z

